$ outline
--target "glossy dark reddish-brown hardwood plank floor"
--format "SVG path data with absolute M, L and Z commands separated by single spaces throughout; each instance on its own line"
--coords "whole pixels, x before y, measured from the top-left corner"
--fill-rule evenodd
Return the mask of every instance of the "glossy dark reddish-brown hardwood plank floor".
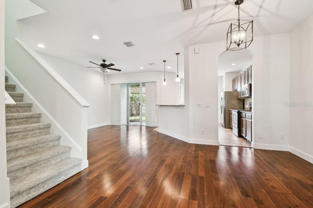
M 187 144 L 153 129 L 89 130 L 89 168 L 21 207 L 313 207 L 313 164 L 290 152 Z

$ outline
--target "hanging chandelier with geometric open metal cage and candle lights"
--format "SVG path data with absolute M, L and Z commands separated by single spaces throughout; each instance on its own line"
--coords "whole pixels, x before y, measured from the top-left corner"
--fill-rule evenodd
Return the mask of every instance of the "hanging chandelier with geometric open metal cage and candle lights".
M 253 21 L 240 20 L 240 4 L 243 2 L 244 0 L 235 1 L 235 5 L 238 5 L 238 21 L 228 27 L 226 50 L 241 50 L 247 48 L 253 41 Z

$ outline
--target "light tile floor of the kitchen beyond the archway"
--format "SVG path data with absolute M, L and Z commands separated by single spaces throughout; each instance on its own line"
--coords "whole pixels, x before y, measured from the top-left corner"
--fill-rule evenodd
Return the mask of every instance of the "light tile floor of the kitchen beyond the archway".
M 247 142 L 245 138 L 236 137 L 231 128 L 224 128 L 221 124 L 219 124 L 219 142 L 224 146 L 251 147 L 251 143 Z

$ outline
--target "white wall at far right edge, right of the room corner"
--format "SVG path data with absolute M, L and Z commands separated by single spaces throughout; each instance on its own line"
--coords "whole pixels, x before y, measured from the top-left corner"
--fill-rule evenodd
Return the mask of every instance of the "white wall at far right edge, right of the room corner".
M 313 102 L 313 15 L 291 32 L 290 99 Z M 312 103 L 311 103 L 312 104 Z M 313 163 L 313 106 L 286 107 L 290 111 L 291 152 Z

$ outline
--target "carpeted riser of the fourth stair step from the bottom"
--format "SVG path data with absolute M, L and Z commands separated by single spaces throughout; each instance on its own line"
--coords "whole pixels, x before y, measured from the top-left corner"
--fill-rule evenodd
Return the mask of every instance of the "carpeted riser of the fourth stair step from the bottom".
M 6 133 L 6 141 L 12 142 L 23 138 L 36 137 L 50 133 L 50 127 L 31 129 L 26 131 Z

